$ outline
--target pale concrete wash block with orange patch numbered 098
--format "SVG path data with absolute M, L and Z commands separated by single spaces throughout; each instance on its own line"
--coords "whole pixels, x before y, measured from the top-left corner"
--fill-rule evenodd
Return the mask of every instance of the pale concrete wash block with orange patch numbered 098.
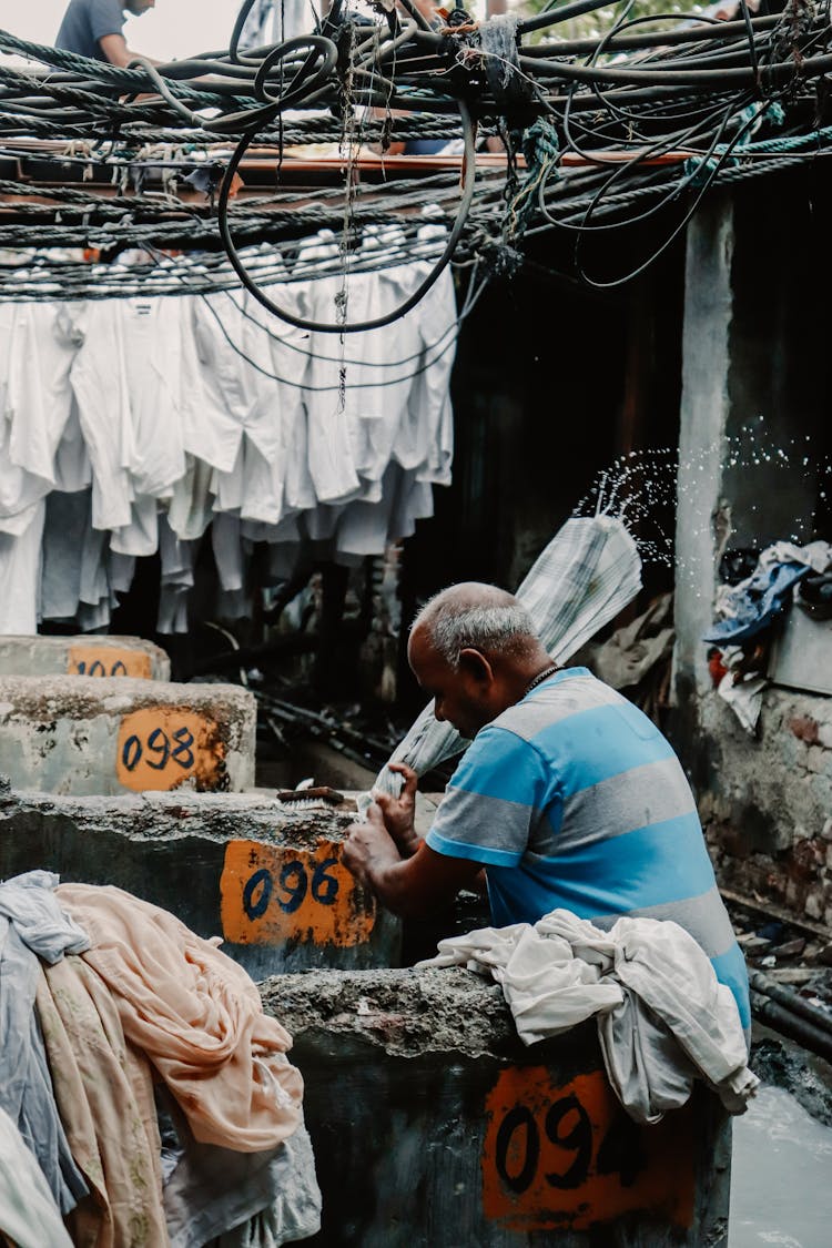
M 17 789 L 249 789 L 254 726 L 254 698 L 237 685 L 0 676 L 0 773 Z

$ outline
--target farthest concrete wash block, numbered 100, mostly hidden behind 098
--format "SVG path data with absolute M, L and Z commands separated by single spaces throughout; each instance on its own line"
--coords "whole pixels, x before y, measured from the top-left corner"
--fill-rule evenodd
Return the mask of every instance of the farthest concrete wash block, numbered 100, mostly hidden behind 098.
M 171 660 L 140 636 L 0 636 L 0 676 L 170 680 Z

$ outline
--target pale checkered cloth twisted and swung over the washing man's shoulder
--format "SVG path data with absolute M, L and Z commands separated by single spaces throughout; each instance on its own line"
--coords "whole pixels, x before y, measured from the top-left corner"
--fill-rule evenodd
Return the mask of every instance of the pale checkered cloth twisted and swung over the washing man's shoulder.
M 575 654 L 595 633 L 632 602 L 641 589 L 641 559 L 624 524 L 609 515 L 573 517 L 558 530 L 516 592 L 540 640 L 555 663 Z M 402 776 L 390 763 L 407 763 L 424 775 L 444 759 L 462 754 L 468 741 L 433 714 L 422 711 L 388 763 L 374 789 L 397 796 Z M 370 804 L 359 797 L 359 810 Z

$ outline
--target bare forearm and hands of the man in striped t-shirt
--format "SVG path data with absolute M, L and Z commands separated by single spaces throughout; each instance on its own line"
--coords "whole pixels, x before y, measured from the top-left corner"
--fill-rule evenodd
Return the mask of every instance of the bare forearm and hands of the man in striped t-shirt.
M 470 859 L 437 854 L 424 842 L 402 857 L 375 805 L 365 824 L 349 829 L 343 862 L 382 905 L 405 919 L 424 919 L 449 905 L 460 889 L 474 886 L 481 867 Z

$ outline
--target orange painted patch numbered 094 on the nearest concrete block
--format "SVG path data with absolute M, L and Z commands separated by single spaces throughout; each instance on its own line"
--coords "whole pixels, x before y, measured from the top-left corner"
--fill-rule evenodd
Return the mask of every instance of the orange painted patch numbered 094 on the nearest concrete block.
M 515 1231 L 585 1231 L 651 1211 L 679 1227 L 694 1217 L 691 1114 L 634 1122 L 606 1075 L 555 1087 L 546 1067 L 509 1067 L 486 1102 L 483 1203 Z

